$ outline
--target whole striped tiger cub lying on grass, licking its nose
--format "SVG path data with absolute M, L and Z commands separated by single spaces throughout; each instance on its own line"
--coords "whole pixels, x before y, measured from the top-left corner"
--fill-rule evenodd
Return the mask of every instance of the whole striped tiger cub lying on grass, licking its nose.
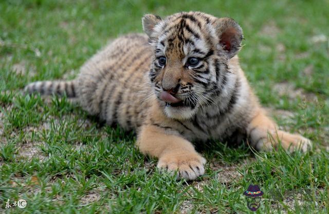
M 231 18 L 181 12 L 142 18 L 145 34 L 121 36 L 98 52 L 72 81 L 35 82 L 29 93 L 77 97 L 108 125 L 137 132 L 137 147 L 158 167 L 196 179 L 206 160 L 191 142 L 241 142 L 271 151 L 312 144 L 279 130 L 253 94 L 236 56 L 243 39 Z

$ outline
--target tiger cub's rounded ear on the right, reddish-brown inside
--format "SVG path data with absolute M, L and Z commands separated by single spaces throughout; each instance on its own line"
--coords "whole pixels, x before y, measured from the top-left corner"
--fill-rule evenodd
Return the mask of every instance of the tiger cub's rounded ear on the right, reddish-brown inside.
M 216 32 L 226 55 L 232 58 L 241 48 L 242 28 L 232 18 L 218 18 Z

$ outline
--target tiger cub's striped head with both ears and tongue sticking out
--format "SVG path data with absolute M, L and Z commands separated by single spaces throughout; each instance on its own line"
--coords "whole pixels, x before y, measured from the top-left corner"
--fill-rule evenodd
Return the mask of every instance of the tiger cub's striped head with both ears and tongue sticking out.
M 216 100 L 221 73 L 241 47 L 241 27 L 231 18 L 181 12 L 161 18 L 147 14 L 143 30 L 155 57 L 149 77 L 170 118 L 191 118 Z

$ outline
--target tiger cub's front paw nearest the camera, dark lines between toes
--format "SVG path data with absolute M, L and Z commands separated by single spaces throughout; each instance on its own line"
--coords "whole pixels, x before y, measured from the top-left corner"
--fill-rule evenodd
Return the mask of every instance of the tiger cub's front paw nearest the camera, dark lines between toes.
M 197 152 L 169 152 L 164 154 L 158 162 L 159 169 L 170 172 L 178 170 L 177 179 L 194 180 L 205 173 L 206 159 Z

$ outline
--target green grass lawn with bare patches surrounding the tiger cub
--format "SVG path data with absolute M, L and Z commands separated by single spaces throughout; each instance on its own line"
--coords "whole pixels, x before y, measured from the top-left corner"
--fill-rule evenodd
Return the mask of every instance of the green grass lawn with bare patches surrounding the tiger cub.
M 133 133 L 99 124 L 66 98 L 20 92 L 36 80 L 73 79 L 109 39 L 141 32 L 145 13 L 189 10 L 242 26 L 250 84 L 284 129 L 314 142 L 312 151 L 212 142 L 198 146 L 206 174 L 176 181 L 134 148 Z M 329 211 L 328 1 L 12 0 L 0 2 L 0 14 L 0 212 L 180 213 L 186 205 L 188 213 L 252 213 L 242 194 L 250 183 L 264 191 L 257 213 Z M 326 41 L 314 42 L 321 34 Z M 8 199 L 27 206 L 5 208 Z

